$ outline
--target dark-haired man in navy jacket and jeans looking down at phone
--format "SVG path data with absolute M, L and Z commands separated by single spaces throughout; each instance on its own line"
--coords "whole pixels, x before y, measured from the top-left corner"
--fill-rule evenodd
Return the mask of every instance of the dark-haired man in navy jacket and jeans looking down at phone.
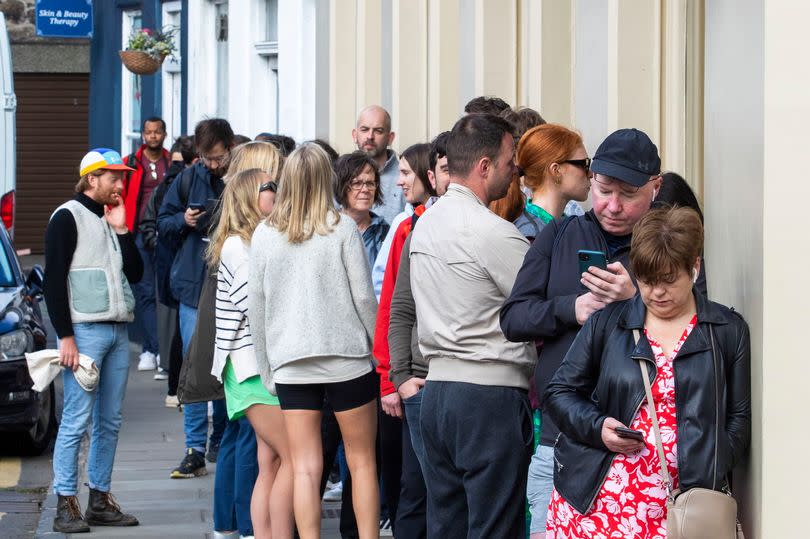
M 212 118 L 197 124 L 194 140 L 200 160 L 181 172 L 172 182 L 166 191 L 157 219 L 160 236 L 177 246 L 177 254 L 172 262 L 170 288 L 180 304 L 178 310 L 183 357 L 188 351 L 197 322 L 197 303 L 205 280 L 208 229 L 214 206 L 225 189 L 222 178 L 230 164 L 234 134 L 226 120 Z M 220 424 L 221 428 L 218 428 Z M 207 447 L 211 462 L 219 450 L 224 425 L 224 402 L 215 401 L 214 432 Z M 181 479 L 205 475 L 207 403 L 186 404 L 183 410 L 183 427 L 186 454 L 180 465 L 172 470 L 171 477 Z

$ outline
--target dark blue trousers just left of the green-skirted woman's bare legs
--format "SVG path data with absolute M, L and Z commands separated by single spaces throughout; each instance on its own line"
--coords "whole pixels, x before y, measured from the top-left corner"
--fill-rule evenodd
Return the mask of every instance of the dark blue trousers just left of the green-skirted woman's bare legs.
M 227 421 L 214 478 L 214 529 L 253 535 L 250 497 L 259 474 L 256 434 L 246 417 Z

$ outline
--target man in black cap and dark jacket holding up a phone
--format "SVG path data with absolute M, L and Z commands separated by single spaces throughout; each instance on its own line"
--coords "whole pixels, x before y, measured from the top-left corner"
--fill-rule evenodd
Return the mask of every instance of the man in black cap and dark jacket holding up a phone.
M 630 239 L 633 226 L 650 210 L 661 186 L 658 148 L 642 131 L 620 129 L 597 149 L 591 173 L 593 209 L 541 231 L 501 310 L 501 328 L 508 339 L 543 343 L 535 370 L 538 395 L 545 392 L 585 321 L 605 305 L 636 294 L 627 271 Z M 604 255 L 605 267 L 592 264 L 580 271 L 583 250 Z M 705 292 L 705 276 L 697 285 Z M 559 432 L 545 413 L 542 425 L 540 446 L 529 468 L 532 521 L 542 522 L 532 525 L 532 539 L 545 534 L 553 445 Z

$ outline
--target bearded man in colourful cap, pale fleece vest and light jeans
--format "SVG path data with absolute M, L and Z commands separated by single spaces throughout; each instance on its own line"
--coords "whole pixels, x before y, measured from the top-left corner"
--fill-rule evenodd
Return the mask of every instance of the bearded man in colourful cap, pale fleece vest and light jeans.
M 59 338 L 60 363 L 68 367 L 62 371 L 64 407 L 53 453 L 58 496 L 53 529 L 62 533 L 88 532 L 91 525 L 138 525 L 110 494 L 129 372 L 127 323 L 135 307 L 130 284 L 143 274 L 121 199 L 127 170 L 132 169 L 115 150 L 88 152 L 79 166 L 76 196 L 56 209 L 45 233 L 45 302 Z M 84 391 L 74 377 L 79 353 L 98 367 L 95 392 Z M 79 445 L 94 408 L 87 456 L 90 496 L 82 516 Z

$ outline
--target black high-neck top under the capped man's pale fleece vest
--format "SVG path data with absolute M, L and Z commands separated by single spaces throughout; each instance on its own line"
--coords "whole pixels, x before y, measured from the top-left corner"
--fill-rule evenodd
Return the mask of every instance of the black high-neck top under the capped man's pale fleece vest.
M 76 195 L 74 200 L 100 218 L 104 217 L 104 205 L 84 193 Z M 143 276 L 143 261 L 135 246 L 135 238 L 129 232 L 117 236 L 124 261 L 124 275 L 130 283 L 137 283 Z M 77 240 L 78 232 L 73 214 L 64 208 L 57 211 L 51 217 L 45 231 L 45 282 L 42 288 L 48 306 L 48 316 L 60 339 L 73 336 L 67 276 L 73 261 L 73 253 L 76 251 Z

